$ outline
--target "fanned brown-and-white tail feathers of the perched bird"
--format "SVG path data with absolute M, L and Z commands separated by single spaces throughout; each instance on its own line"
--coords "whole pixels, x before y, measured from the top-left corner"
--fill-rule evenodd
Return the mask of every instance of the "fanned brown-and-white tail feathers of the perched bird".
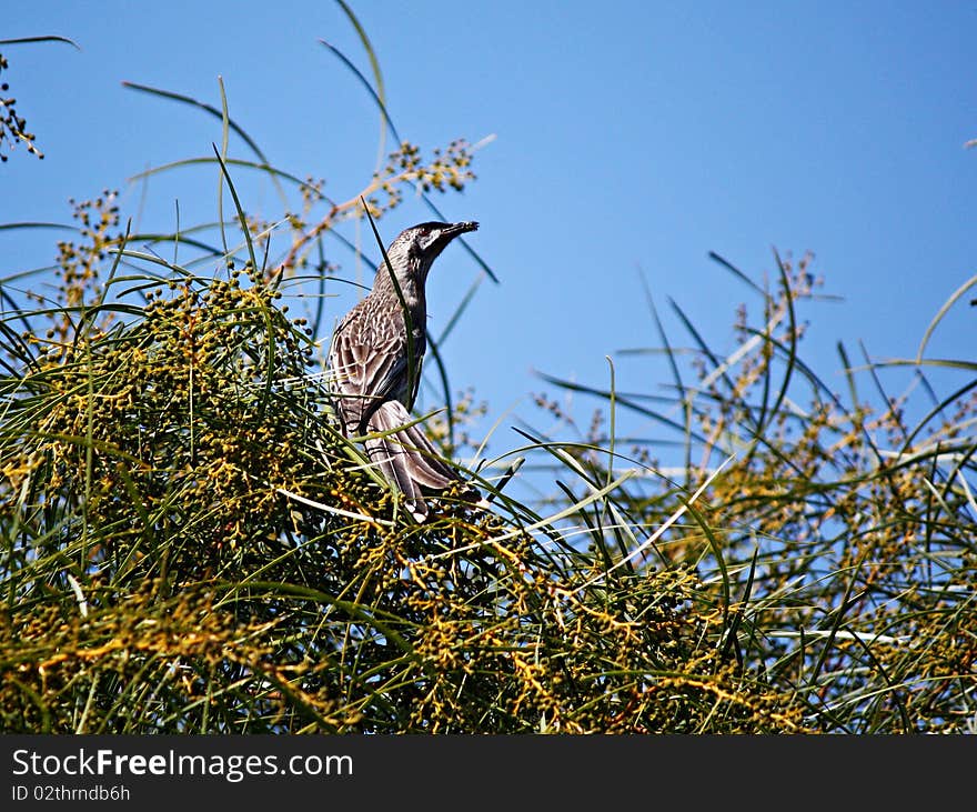
M 370 433 L 395 433 L 367 440 L 366 457 L 404 494 L 414 519 L 423 522 L 427 505 L 422 489 L 443 491 L 464 480 L 441 459 L 419 424 L 400 428 L 410 421 L 403 403 L 395 400 L 383 403 L 370 418 Z M 481 494 L 471 485 L 466 485 L 461 495 L 471 501 L 481 500 Z

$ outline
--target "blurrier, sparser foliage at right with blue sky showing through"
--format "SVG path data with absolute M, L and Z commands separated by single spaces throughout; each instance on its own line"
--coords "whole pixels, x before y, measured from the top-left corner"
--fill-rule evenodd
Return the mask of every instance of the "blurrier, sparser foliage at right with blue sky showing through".
M 866 359 L 856 370 L 838 344 L 843 398 L 799 355 L 796 311 L 818 284 L 812 258 L 795 264 L 775 254 L 773 290 L 715 259 L 763 304 L 759 324 L 741 310 L 733 352 L 716 353 L 685 321 L 693 382 L 662 333 L 673 395 L 551 382 L 610 402 L 618 420 L 627 413 L 673 431 L 686 482 L 732 461 L 657 551 L 666 565 L 697 562 L 724 613 L 716 645 L 741 668 L 809 704 L 806 718 L 819 730 L 973 732 L 977 364 Z M 953 367 L 967 380 L 938 398 L 927 367 Z M 915 385 L 889 395 L 884 372 L 906 368 Z M 864 378 L 880 410 L 859 389 Z M 601 481 L 620 473 L 606 469 L 603 449 L 628 443 L 633 459 L 651 464 L 646 443 L 614 437 L 598 415 L 574 457 Z M 646 477 L 614 500 L 628 521 L 655 527 L 667 493 L 661 477 Z

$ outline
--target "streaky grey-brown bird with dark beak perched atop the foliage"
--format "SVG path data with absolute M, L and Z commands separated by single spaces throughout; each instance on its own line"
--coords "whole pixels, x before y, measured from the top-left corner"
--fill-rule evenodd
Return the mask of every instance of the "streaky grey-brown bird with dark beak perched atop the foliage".
M 424 222 L 402 231 L 386 249 L 370 293 L 343 317 L 329 350 L 338 415 L 346 438 L 370 437 L 366 457 L 404 494 L 419 522 L 427 518 L 426 491 L 459 484 L 459 495 L 484 503 L 434 449 L 411 410 L 427 349 L 425 284 L 434 260 L 479 223 Z

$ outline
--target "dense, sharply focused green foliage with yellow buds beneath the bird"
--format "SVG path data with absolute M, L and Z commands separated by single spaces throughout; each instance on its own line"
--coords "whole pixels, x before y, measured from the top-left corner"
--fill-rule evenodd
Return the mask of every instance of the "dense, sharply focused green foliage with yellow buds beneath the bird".
M 60 249 L 61 298 L 94 303 L 20 311 L 54 327 L 6 348 L 6 730 L 799 726 L 703 644 L 686 568 L 611 585 L 607 550 L 513 504 L 411 522 L 334 430 L 266 274 L 103 283 L 123 237 L 100 202 Z M 109 303 L 122 288 L 145 303 Z

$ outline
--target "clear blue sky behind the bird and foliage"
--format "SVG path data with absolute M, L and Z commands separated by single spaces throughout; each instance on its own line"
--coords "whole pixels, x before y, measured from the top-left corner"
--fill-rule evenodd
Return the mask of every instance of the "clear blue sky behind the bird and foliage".
M 963 2 L 353 2 L 372 39 L 401 134 L 424 148 L 495 134 L 479 180 L 436 202 L 475 219 L 471 243 L 502 280 L 483 284 L 443 348 L 455 389 L 537 425 L 533 369 L 645 392 L 668 382 L 637 269 L 667 312 L 676 300 L 729 351 L 734 309 L 756 305 L 707 259 L 773 273 L 770 249 L 816 254 L 826 293 L 807 307 L 809 360 L 844 390 L 834 345 L 915 354 L 947 297 L 977 272 L 977 9 Z M 122 88 L 152 84 L 219 104 L 283 170 L 325 178 L 335 198 L 369 180 L 375 108 L 318 44 L 367 62 L 331 2 L 10 3 L 0 39 L 60 34 L 81 46 L 6 47 L 4 77 L 47 153 L 0 167 L 0 222 L 68 220 L 67 199 L 123 191 L 134 214 L 148 167 L 210 154 L 220 122 Z M 246 157 L 240 143 L 232 154 Z M 213 168 L 154 180 L 142 228 L 215 217 Z M 269 213 L 268 188 L 245 205 Z M 409 200 L 381 220 L 389 240 L 430 219 Z M 0 275 L 43 265 L 57 237 L 0 233 Z M 336 249 L 335 259 L 349 255 Z M 453 247 L 430 280 L 436 335 L 477 273 Z M 968 297 L 969 299 L 969 297 Z M 330 301 L 341 315 L 351 300 Z M 937 357 L 973 358 L 977 309 L 963 302 Z M 425 402 L 425 408 L 436 403 Z M 578 410 L 586 423 L 590 407 Z M 513 422 L 506 419 L 504 424 Z M 647 432 L 654 437 L 656 429 Z M 492 450 L 518 445 L 503 429 Z

